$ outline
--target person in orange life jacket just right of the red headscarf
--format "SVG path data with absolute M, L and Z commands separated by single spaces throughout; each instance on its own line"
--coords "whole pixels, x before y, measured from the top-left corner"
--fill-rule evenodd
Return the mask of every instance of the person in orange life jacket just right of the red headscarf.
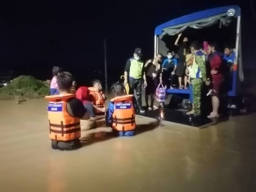
M 90 102 L 93 103 L 96 109 L 96 115 L 105 115 L 105 100 L 107 99 L 102 93 L 102 83 L 100 80 L 95 79 L 92 82 L 93 87 L 88 87 L 90 91 Z

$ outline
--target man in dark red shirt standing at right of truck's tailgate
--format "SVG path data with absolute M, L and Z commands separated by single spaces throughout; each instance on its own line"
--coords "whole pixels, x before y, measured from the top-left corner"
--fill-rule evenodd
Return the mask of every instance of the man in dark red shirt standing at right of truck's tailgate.
M 221 53 L 217 51 L 218 44 L 211 43 L 209 44 L 210 52 L 210 67 L 211 67 L 211 76 L 212 76 L 212 113 L 208 116 L 209 118 L 216 118 L 219 116 L 218 108 L 220 105 L 219 101 L 219 90 L 223 81 L 223 74 L 221 71 L 222 68 L 222 56 Z

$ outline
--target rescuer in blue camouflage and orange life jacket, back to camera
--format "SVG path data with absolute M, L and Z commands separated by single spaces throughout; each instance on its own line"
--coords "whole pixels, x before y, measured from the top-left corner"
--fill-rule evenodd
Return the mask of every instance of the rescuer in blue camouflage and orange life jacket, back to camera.
M 136 129 L 136 99 L 133 95 L 126 95 L 123 84 L 116 83 L 112 91 L 115 97 L 108 105 L 106 124 L 120 137 L 133 136 Z

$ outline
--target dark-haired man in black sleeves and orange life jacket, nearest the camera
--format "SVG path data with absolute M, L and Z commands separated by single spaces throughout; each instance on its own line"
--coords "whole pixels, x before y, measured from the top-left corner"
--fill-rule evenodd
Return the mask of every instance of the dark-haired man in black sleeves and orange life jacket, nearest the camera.
M 59 95 L 46 96 L 48 104 L 49 137 L 52 148 L 73 150 L 81 147 L 80 119 L 89 119 L 83 103 L 71 94 L 73 77 L 68 72 L 59 73 Z

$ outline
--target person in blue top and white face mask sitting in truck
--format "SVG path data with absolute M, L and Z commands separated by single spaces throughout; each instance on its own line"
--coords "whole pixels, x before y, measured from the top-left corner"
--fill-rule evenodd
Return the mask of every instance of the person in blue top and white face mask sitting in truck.
M 167 51 L 167 59 L 163 61 L 163 84 L 168 89 L 173 89 L 173 79 L 177 69 L 177 59 L 173 57 L 172 51 Z

